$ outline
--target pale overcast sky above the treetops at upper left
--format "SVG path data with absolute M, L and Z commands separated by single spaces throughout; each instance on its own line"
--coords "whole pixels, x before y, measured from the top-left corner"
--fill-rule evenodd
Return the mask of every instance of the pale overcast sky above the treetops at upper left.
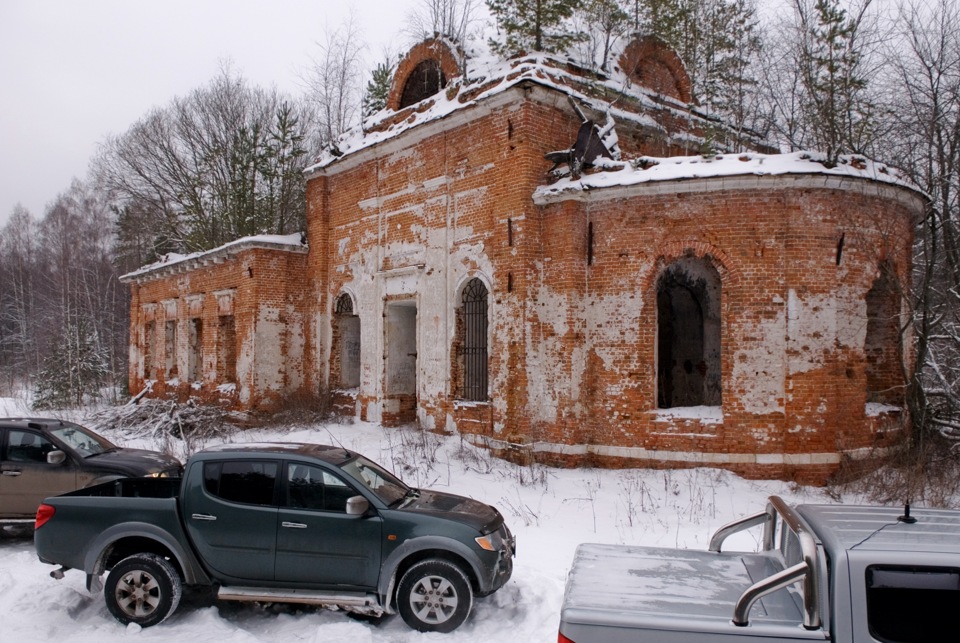
M 0 226 L 85 178 L 97 143 L 207 84 L 229 60 L 300 94 L 317 42 L 354 8 L 368 60 L 420 0 L 0 0 Z

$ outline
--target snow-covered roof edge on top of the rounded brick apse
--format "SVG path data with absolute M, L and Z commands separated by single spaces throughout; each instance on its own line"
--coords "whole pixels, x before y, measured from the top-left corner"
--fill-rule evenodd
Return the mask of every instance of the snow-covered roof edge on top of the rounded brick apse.
M 545 203 L 576 193 L 656 181 L 683 181 L 733 176 L 823 175 L 856 177 L 919 192 L 900 170 L 862 156 L 842 156 L 833 165 L 817 152 L 789 154 L 718 154 L 711 156 L 649 156 L 629 161 L 600 159 L 598 171 L 579 180 L 569 176 L 537 188 L 534 201 Z

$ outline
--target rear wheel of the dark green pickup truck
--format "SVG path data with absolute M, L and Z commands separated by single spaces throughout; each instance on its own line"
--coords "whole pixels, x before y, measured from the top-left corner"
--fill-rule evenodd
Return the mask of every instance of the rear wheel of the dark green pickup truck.
M 180 604 L 180 575 L 156 554 L 134 554 L 110 570 L 103 598 L 114 618 L 150 627 L 163 622 Z

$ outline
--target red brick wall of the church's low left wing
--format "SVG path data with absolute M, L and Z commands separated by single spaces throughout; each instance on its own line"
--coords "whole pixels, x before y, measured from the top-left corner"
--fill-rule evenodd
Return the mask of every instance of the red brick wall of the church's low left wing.
M 303 388 L 302 345 L 304 299 L 307 291 L 297 278 L 306 267 L 304 253 L 250 248 L 219 262 L 189 262 L 181 272 L 145 275 L 131 281 L 130 391 L 136 394 L 145 379 L 154 380 L 154 396 L 196 397 L 208 402 L 250 409 L 276 408 Z M 234 318 L 232 346 L 225 346 L 227 326 Z M 187 381 L 190 324 L 202 323 L 201 379 Z M 147 321 L 154 320 L 152 364 L 144 364 Z M 176 372 L 169 377 L 164 327 L 177 327 Z M 235 359 L 235 385 L 224 381 L 223 357 Z M 144 373 L 149 373 L 145 378 Z

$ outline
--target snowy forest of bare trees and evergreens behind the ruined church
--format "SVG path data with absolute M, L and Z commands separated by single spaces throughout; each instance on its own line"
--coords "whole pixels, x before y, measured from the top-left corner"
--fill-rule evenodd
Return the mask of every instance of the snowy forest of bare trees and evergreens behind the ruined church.
M 914 275 L 900 284 L 915 435 L 960 435 L 960 0 L 420 0 L 407 44 L 442 34 L 598 72 L 635 34 L 678 52 L 695 108 L 723 145 L 767 140 L 828 162 L 863 154 L 930 197 Z M 225 66 L 206 85 L 104 139 L 90 171 L 0 235 L 0 395 L 37 407 L 124 392 L 129 295 L 118 276 L 167 252 L 304 229 L 303 169 L 386 104 L 400 52 L 365 71 L 354 18 L 323 34 L 299 96 Z M 469 67 L 468 67 L 469 73 Z M 732 143 L 730 141 L 733 141 Z

